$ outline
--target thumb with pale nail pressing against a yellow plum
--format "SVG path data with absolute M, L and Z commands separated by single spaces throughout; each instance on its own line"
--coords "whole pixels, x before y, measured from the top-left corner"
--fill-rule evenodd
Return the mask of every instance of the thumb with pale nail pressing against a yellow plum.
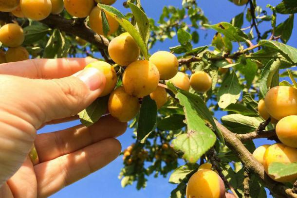
M 84 69 L 72 76 L 52 79 L 35 80 L 38 90 L 42 90 L 35 98 L 41 110 L 37 115 L 37 128 L 45 122 L 73 116 L 87 108 L 100 96 L 105 88 L 105 75 L 94 68 Z

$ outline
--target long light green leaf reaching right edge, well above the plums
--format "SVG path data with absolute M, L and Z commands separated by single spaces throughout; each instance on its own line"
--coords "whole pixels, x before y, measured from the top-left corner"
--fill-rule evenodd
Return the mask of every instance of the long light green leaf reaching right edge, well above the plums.
M 268 47 L 277 50 L 280 54 L 291 60 L 293 63 L 297 63 L 297 49 L 289 45 L 280 43 L 273 40 L 260 40 L 260 46 Z

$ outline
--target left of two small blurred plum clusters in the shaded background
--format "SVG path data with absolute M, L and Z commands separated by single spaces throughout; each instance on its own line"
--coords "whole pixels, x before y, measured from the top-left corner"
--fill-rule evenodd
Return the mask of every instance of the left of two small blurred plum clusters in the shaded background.
M 134 144 L 131 144 L 124 150 L 123 160 L 127 165 L 131 165 L 133 162 L 141 164 L 147 158 L 148 151 L 140 147 L 138 148 Z

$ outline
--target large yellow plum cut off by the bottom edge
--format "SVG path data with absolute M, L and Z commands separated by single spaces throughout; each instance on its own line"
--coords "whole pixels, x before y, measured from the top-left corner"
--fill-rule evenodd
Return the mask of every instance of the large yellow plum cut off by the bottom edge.
M 223 180 L 208 169 L 194 173 L 186 186 L 186 198 L 225 198 L 225 192 Z

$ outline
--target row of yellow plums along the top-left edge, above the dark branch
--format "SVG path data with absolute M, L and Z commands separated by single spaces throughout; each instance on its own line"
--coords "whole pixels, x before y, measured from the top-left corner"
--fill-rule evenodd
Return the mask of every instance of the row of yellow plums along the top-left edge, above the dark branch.
M 101 0 L 103 4 L 111 5 L 116 0 Z M 99 35 L 103 35 L 101 10 L 94 0 L 0 0 L 0 11 L 11 12 L 19 18 L 43 20 L 50 14 L 58 15 L 63 10 L 77 18 L 89 16 L 90 28 Z M 110 31 L 113 34 L 119 27 L 118 22 L 107 15 Z

